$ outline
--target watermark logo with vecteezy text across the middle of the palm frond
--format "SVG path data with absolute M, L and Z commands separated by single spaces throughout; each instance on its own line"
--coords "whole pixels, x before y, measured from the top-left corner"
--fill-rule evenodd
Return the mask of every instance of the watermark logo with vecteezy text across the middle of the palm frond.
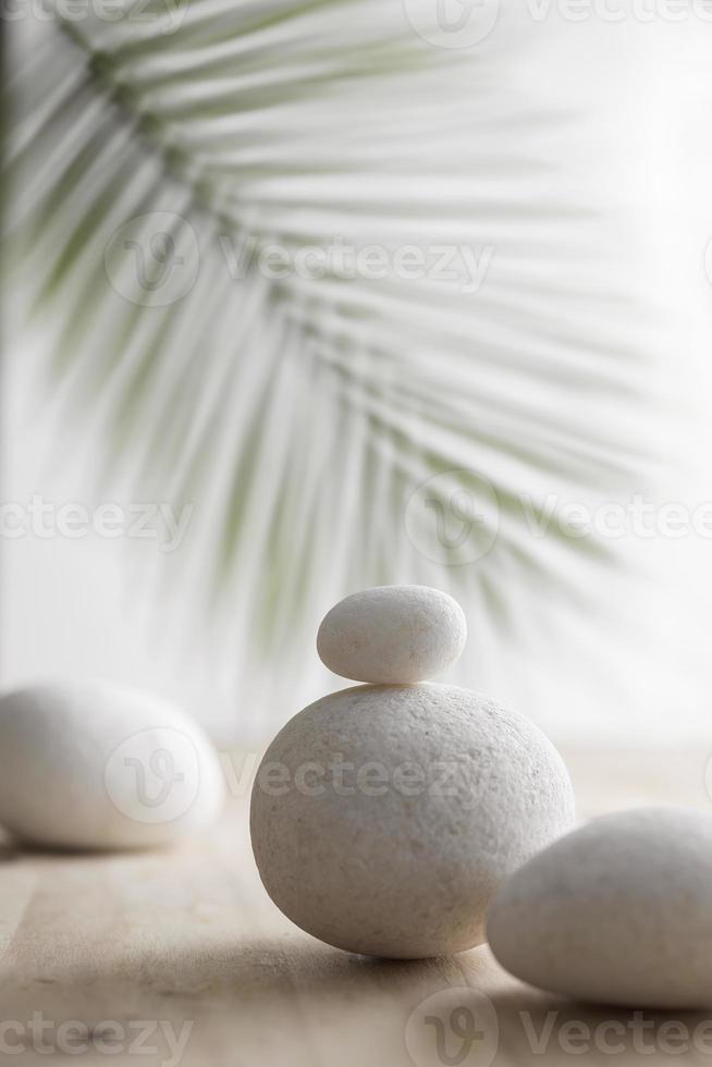
M 268 281 L 297 278 L 354 282 L 429 281 L 474 296 L 494 259 L 494 245 L 402 244 L 355 245 L 335 234 L 321 244 L 290 245 L 263 235 L 220 233 L 202 255 L 217 252 L 234 282 L 250 274 Z M 165 307 L 195 285 L 201 254 L 189 222 L 156 211 L 130 219 L 112 234 L 105 254 L 113 289 L 132 304 Z

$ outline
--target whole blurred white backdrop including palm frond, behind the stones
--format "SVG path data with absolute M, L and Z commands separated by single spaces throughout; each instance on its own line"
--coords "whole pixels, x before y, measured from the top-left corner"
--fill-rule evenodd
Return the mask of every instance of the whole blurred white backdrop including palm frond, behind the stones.
M 556 515 L 712 499 L 712 24 L 503 3 L 446 48 L 434 0 L 38 10 L 10 27 L 3 499 L 189 526 L 10 539 L 5 680 L 113 675 L 261 737 L 337 684 L 326 610 L 417 581 L 467 611 L 453 677 L 554 735 L 707 729 L 709 543 Z M 334 243 L 390 266 L 259 266 Z M 477 284 L 406 247 L 468 249 Z

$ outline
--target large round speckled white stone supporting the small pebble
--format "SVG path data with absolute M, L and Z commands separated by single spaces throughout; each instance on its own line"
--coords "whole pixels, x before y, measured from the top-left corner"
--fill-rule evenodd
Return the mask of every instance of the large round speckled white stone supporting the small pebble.
M 456 686 L 358 686 L 274 738 L 250 832 L 293 922 L 409 959 L 480 944 L 504 879 L 573 820 L 566 769 L 528 720 Z

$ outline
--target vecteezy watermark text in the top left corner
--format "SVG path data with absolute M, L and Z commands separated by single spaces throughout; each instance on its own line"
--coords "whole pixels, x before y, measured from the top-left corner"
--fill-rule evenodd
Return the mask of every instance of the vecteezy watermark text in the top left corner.
M 172 34 L 182 26 L 188 7 L 183 0 L 0 0 L 0 22 L 130 22 Z

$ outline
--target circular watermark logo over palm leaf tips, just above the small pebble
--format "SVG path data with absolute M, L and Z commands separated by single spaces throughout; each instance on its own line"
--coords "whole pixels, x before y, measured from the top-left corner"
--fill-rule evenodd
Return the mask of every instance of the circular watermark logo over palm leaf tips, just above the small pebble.
M 445 566 L 475 563 L 487 555 L 500 528 L 494 487 L 472 470 L 446 470 L 419 486 L 405 507 L 410 543 Z

